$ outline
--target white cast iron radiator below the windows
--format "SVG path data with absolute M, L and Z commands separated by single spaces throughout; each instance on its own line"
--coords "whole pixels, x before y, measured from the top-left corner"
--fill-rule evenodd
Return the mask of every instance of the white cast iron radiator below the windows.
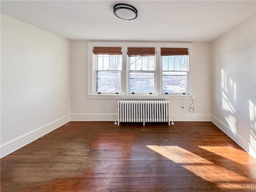
M 168 122 L 170 125 L 170 102 L 165 100 L 120 100 L 120 122 Z

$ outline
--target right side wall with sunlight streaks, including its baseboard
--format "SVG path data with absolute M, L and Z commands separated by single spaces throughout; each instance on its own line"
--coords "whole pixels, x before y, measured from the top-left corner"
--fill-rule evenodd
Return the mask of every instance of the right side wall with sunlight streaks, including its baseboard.
M 212 42 L 212 121 L 256 158 L 255 19 Z

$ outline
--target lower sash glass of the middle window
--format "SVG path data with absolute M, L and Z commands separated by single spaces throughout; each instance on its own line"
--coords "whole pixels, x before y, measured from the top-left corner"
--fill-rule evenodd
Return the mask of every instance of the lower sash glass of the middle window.
M 130 72 L 130 92 L 154 92 L 154 72 Z

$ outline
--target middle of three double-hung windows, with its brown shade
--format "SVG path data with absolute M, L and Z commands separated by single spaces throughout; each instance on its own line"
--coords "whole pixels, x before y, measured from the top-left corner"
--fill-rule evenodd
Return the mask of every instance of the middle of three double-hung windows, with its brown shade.
M 129 93 L 155 93 L 155 48 L 128 47 Z

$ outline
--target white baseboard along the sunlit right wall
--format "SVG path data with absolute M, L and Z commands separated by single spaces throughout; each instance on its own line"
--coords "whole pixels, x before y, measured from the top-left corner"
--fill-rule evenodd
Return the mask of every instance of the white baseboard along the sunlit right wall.
M 241 135 L 237 133 L 233 133 L 230 126 L 226 125 L 224 122 L 212 116 L 212 122 L 215 124 L 220 130 L 222 130 L 226 135 L 228 135 L 234 142 L 236 142 L 240 147 L 242 147 L 248 154 L 250 154 L 253 158 L 256 159 L 256 148 L 252 146 L 252 144 L 243 138 Z

